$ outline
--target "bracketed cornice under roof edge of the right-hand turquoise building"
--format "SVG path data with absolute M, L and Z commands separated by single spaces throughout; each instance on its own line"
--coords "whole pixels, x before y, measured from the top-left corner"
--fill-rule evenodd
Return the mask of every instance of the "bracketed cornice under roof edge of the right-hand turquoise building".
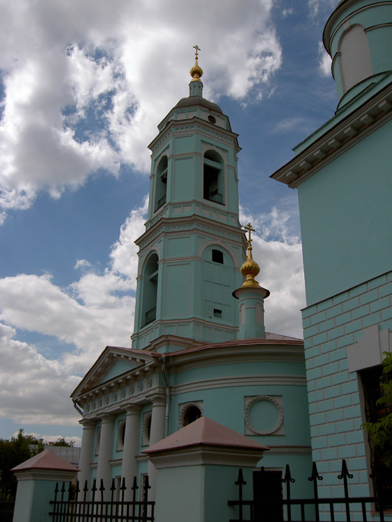
M 392 116 L 392 84 L 340 120 L 272 177 L 295 189 L 350 147 L 384 125 Z

